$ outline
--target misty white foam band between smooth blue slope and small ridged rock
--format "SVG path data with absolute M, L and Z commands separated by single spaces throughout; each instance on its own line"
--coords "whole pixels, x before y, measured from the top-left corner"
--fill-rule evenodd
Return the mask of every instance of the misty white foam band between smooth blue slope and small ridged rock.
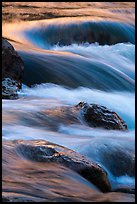
M 125 120 L 129 129 L 135 127 L 135 95 L 129 92 L 104 92 L 86 87 L 68 89 L 55 84 L 40 84 L 33 88 L 23 87 L 21 96 L 56 99 L 64 104 L 76 105 L 80 101 L 104 105 Z M 30 103 L 30 102 L 29 102 Z M 35 104 L 35 103 L 33 103 Z M 37 101 L 39 106 L 39 100 Z

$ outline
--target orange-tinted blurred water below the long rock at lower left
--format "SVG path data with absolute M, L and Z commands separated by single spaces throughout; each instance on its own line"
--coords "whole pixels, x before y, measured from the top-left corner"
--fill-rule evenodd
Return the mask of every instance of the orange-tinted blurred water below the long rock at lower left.
M 34 143 L 45 144 L 41 140 Z M 135 202 L 131 193 L 100 192 L 60 163 L 25 158 L 19 144 L 32 146 L 33 141 L 2 142 L 2 202 Z

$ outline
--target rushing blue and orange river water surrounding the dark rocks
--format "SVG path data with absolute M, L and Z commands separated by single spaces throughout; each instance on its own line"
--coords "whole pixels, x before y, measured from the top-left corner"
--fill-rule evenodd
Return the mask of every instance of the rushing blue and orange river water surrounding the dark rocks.
M 75 171 L 79 161 L 94 161 L 107 172 L 113 190 L 135 190 L 134 25 L 135 2 L 2 2 L 2 36 L 25 64 L 19 99 L 2 101 L 5 198 L 134 201 L 132 193 L 102 193 Z M 80 101 L 120 113 L 129 130 L 88 126 L 78 118 Z M 19 151 L 23 145 L 32 147 L 30 157 L 26 149 Z M 76 166 L 40 162 L 37 147 L 54 149 L 47 150 L 47 158 L 73 158 Z

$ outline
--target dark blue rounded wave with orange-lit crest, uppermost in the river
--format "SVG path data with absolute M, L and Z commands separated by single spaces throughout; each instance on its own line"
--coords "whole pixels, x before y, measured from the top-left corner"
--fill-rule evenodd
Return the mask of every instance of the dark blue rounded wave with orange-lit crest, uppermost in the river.
M 121 22 L 69 21 L 56 20 L 55 23 L 41 21 L 23 31 L 26 39 L 34 45 L 49 49 L 51 46 L 71 45 L 73 43 L 95 43 L 112 45 L 122 42 L 135 43 L 135 28 Z

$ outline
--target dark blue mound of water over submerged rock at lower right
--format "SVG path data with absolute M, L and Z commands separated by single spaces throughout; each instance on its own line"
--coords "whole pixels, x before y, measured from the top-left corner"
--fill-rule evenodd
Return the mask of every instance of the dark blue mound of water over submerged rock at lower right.
M 98 144 L 98 146 L 101 145 Z M 126 150 L 115 143 L 113 145 L 105 143 L 105 148 L 98 148 L 99 159 L 114 176 L 126 175 L 133 178 L 135 176 L 135 152 L 130 147 L 125 147 Z

